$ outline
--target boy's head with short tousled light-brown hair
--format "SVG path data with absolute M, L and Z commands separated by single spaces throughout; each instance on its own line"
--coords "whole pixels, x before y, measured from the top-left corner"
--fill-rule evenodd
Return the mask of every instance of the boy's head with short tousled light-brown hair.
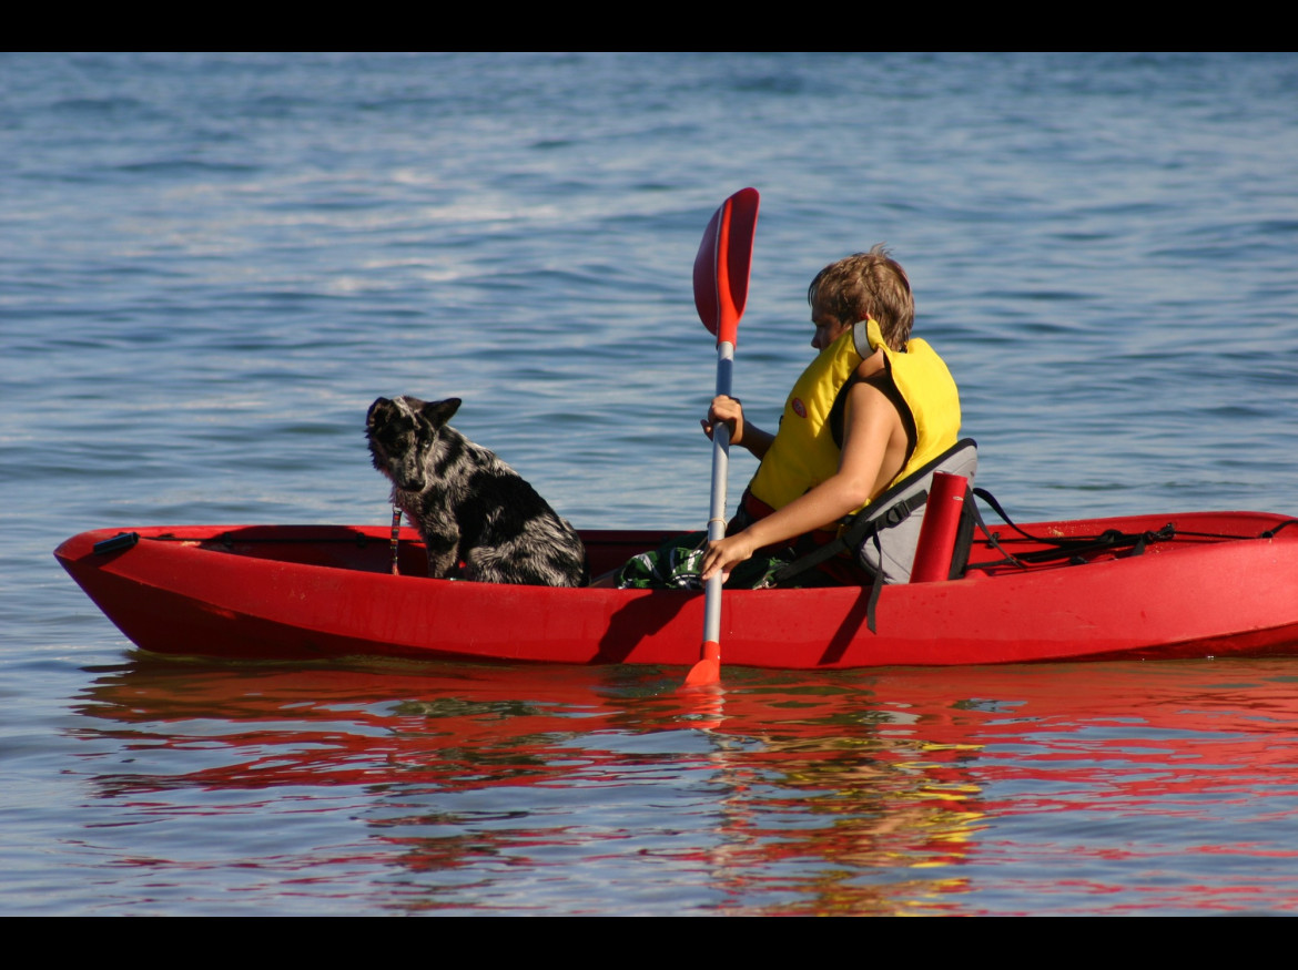
M 807 302 L 813 318 L 828 313 L 845 327 L 874 316 L 893 350 L 906 348 L 915 323 L 910 280 L 881 242 L 820 270 L 807 287 Z

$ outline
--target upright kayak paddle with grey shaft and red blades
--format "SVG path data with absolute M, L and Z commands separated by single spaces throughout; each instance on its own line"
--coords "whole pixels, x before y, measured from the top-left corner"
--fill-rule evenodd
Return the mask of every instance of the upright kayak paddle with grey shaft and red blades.
M 748 276 L 753 265 L 753 235 L 757 232 L 755 188 L 744 188 L 722 202 L 694 257 L 694 306 L 709 333 L 716 337 L 716 393 L 729 396 L 735 366 L 739 318 L 748 302 Z M 707 512 L 709 542 L 726 534 L 726 468 L 729 460 L 729 429 L 713 425 L 713 499 Z M 685 677 L 687 687 L 716 683 L 722 676 L 722 577 L 707 581 L 704 599 L 702 656 Z

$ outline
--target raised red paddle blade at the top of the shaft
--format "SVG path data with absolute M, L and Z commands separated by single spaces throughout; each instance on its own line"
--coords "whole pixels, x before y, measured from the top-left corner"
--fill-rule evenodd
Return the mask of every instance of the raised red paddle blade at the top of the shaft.
M 755 188 L 741 188 L 722 202 L 707 222 L 694 257 L 694 306 L 698 319 L 718 344 L 733 345 L 739 337 L 739 318 L 748 302 L 748 278 L 753 268 L 759 201 Z

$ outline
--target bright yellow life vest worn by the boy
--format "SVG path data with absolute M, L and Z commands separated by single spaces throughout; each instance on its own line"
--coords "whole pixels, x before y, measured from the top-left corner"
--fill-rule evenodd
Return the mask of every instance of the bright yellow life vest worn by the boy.
M 862 337 L 867 346 L 858 349 Z M 829 429 L 829 412 L 842 385 L 864 359 L 863 354 L 877 349 L 884 351 L 888 373 L 915 425 L 915 450 L 889 486 L 955 444 L 961 431 L 961 398 L 942 358 L 919 338 L 911 340 L 903 351 L 892 350 L 884 342 L 879 323 L 868 319 L 822 350 L 793 385 L 775 441 L 749 482 L 754 498 L 771 508 L 783 508 L 839 471 L 841 450 Z

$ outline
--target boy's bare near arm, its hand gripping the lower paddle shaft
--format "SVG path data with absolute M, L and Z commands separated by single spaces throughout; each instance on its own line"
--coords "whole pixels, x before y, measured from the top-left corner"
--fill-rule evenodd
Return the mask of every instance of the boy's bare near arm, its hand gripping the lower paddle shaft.
M 906 429 L 896 406 L 877 388 L 857 384 L 848 394 L 844 425 L 839 471 L 742 532 L 707 543 L 704 580 L 718 569 L 728 576 L 765 546 L 831 525 L 887 488 L 905 463 Z

